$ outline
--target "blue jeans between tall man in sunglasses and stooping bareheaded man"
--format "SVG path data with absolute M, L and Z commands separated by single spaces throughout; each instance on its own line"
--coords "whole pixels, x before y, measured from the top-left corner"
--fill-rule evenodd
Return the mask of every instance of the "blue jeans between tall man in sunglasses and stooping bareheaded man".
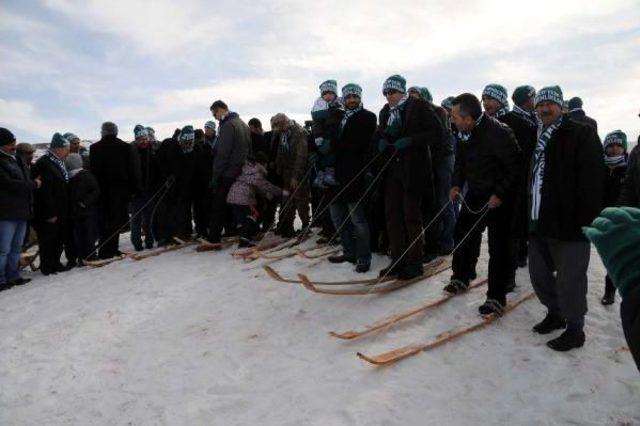
M 455 158 L 453 154 L 434 163 L 434 174 L 436 177 L 436 202 L 437 210 L 449 202 L 449 190 L 453 178 L 453 164 Z M 453 250 L 453 232 L 457 221 L 457 208 L 452 203 L 442 212 L 440 222 L 440 238 L 438 245 L 440 250 L 450 252 Z

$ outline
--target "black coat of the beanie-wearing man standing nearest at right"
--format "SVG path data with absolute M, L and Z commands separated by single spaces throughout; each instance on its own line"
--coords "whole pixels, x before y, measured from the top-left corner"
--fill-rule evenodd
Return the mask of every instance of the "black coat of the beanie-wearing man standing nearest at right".
M 535 233 L 562 241 L 586 241 L 582 227 L 600 214 L 605 166 L 595 129 L 567 115 L 544 151 L 545 169 Z

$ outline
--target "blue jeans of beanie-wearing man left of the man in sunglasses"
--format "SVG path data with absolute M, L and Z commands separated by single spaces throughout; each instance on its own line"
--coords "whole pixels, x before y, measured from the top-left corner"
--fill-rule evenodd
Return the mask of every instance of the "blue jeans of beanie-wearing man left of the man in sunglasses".
M 340 229 L 344 255 L 359 263 L 371 263 L 369 224 L 362 205 L 355 205 L 336 201 L 330 208 L 331 219 L 336 229 Z

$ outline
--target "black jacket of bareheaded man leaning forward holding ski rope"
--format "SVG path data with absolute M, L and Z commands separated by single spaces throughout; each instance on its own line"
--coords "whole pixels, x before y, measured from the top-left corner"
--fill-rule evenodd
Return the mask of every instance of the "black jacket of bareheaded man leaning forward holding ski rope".
M 513 200 L 519 173 L 520 147 L 513 130 L 498 120 L 485 115 L 471 138 L 458 142 L 453 186 L 467 183 L 479 198 Z

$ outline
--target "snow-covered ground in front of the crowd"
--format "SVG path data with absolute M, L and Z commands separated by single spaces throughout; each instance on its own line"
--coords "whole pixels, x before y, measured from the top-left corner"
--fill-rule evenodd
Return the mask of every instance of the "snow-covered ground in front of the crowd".
M 124 238 L 123 238 L 124 240 Z M 486 273 L 486 248 L 479 273 Z M 283 275 L 353 277 L 295 257 Z M 617 303 L 589 271 L 587 343 L 555 353 L 530 300 L 495 325 L 387 367 L 375 354 L 477 320 L 480 288 L 386 333 L 329 336 L 436 299 L 450 273 L 384 296 L 327 296 L 193 248 L 0 293 L 0 425 L 631 425 L 640 374 Z M 374 270 L 384 266 L 374 259 Z M 375 272 L 371 272 L 372 275 Z M 526 269 L 518 292 L 530 291 Z

